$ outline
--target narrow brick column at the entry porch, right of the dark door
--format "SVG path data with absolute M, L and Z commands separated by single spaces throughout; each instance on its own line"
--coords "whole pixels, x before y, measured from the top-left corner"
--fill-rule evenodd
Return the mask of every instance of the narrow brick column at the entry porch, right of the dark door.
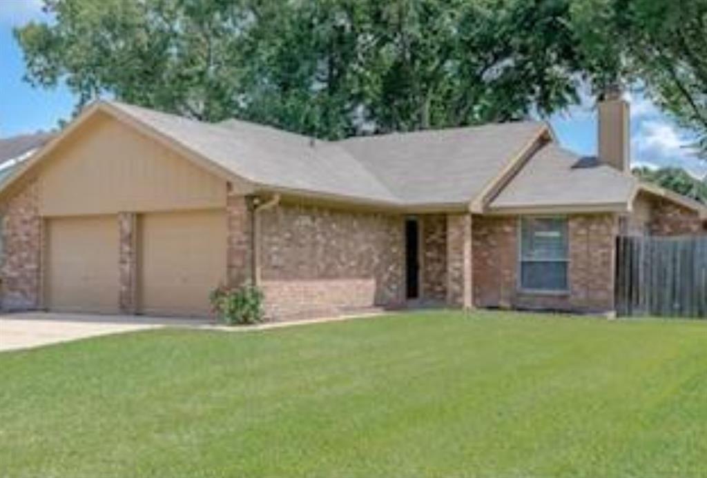
M 447 215 L 447 304 L 471 309 L 472 215 Z

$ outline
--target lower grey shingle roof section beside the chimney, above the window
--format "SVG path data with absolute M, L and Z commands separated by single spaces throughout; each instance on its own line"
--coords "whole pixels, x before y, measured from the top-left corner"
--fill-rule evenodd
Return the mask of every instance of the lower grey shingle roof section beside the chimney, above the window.
M 626 204 L 638 179 L 596 157 L 580 157 L 555 143 L 541 148 L 491 202 L 491 210 L 592 208 Z

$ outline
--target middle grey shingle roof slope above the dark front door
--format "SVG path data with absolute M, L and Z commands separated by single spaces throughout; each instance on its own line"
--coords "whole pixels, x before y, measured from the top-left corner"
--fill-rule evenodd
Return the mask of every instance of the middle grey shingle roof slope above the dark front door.
M 468 203 L 546 128 L 526 121 L 351 138 L 340 144 L 402 203 Z

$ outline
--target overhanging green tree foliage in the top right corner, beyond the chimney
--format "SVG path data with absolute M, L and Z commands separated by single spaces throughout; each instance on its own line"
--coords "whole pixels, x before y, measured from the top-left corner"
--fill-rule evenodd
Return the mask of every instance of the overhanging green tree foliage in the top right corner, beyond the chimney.
M 640 81 L 707 154 L 707 0 L 582 0 L 574 10 L 595 80 Z

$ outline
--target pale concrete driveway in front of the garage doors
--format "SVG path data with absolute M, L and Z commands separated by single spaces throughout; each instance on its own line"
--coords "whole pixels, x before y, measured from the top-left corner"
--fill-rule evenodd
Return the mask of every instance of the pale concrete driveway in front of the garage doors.
M 94 316 L 71 313 L 0 314 L 0 352 L 168 326 L 207 325 L 204 319 Z

